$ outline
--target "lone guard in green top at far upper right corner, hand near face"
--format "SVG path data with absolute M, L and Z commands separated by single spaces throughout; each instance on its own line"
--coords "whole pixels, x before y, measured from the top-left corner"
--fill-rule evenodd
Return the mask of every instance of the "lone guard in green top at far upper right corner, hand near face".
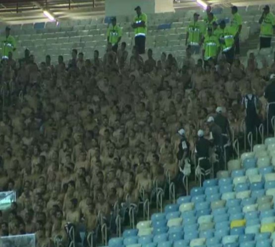
M 269 5 L 264 7 L 264 12 L 259 20 L 261 24 L 260 49 L 271 47 L 273 29 L 275 28 L 275 17 L 270 12 Z

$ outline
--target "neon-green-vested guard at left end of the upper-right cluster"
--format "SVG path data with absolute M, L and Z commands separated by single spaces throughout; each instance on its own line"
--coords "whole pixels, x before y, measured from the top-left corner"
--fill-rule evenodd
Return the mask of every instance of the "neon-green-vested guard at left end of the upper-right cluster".
M 185 45 L 191 46 L 191 53 L 195 52 L 198 54 L 200 52 L 200 43 L 202 39 L 203 27 L 201 23 L 198 22 L 199 14 L 194 13 L 194 21 L 192 21 L 187 28 Z

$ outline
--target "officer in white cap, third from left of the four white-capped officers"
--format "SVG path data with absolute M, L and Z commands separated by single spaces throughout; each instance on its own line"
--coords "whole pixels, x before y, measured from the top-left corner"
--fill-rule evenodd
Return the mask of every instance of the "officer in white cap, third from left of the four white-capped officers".
M 213 117 L 209 117 L 207 120 L 209 130 L 210 130 L 210 141 L 213 143 L 216 149 L 216 153 L 219 157 L 219 164 L 216 166 L 214 170 L 214 174 L 222 168 L 224 165 L 223 162 L 223 141 L 222 141 L 222 132 L 219 125 L 215 124 L 215 120 Z

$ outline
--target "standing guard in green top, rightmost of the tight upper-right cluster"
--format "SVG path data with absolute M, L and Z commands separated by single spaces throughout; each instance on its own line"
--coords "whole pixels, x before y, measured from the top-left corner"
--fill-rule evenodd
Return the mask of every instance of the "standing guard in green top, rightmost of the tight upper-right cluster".
M 232 19 L 231 19 L 231 27 L 234 31 L 234 39 L 235 39 L 235 54 L 240 54 L 240 33 L 242 30 L 242 17 L 238 13 L 237 6 L 231 7 Z

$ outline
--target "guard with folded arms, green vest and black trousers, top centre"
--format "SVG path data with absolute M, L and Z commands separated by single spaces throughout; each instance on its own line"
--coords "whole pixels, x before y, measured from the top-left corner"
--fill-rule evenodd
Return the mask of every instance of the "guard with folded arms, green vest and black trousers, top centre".
M 139 54 L 144 54 L 147 33 L 147 15 L 141 12 L 140 6 L 137 6 L 135 11 L 137 15 L 132 24 L 132 28 L 135 32 L 135 46 L 137 46 Z

